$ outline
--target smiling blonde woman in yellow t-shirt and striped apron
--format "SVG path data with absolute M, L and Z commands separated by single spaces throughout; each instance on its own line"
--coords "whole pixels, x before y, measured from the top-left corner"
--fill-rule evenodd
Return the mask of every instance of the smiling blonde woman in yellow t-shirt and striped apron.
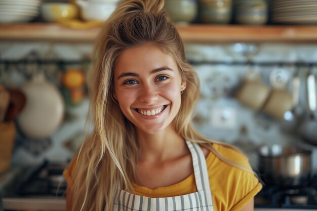
M 163 6 L 124 1 L 99 34 L 95 128 L 64 171 L 67 210 L 253 210 L 247 158 L 193 128 L 199 79 Z

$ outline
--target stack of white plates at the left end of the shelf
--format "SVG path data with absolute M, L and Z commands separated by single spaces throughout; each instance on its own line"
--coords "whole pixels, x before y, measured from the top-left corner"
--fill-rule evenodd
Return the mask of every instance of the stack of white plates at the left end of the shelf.
M 23 23 L 38 15 L 41 0 L 0 0 L 0 23 Z

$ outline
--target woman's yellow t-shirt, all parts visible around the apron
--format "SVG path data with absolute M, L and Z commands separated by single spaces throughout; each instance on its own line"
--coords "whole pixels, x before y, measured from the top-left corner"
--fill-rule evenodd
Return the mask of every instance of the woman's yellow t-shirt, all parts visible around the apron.
M 227 159 L 251 170 L 246 156 L 219 144 L 213 146 Z M 239 211 L 262 189 L 262 184 L 253 173 L 227 164 L 212 152 L 207 156 L 206 163 L 215 211 Z M 69 171 L 72 167 L 70 166 Z M 67 183 L 71 184 L 69 171 L 65 170 L 64 176 Z M 133 187 L 133 194 L 152 198 L 179 196 L 197 191 L 194 174 L 167 187 L 150 189 L 136 184 Z

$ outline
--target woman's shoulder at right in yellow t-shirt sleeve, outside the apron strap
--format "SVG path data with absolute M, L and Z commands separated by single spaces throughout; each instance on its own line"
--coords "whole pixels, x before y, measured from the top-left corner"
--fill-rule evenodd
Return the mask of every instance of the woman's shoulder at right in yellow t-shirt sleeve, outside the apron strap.
M 213 148 L 224 158 L 211 151 L 206 159 L 216 210 L 240 210 L 261 190 L 262 184 L 243 153 L 218 143 Z

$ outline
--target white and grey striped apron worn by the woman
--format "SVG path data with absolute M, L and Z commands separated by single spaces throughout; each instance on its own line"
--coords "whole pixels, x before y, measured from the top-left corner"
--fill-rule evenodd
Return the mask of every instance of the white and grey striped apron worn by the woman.
M 119 190 L 114 199 L 114 211 L 214 211 L 204 153 L 197 144 L 189 141 L 186 144 L 192 156 L 197 192 L 167 198 L 149 198 Z

